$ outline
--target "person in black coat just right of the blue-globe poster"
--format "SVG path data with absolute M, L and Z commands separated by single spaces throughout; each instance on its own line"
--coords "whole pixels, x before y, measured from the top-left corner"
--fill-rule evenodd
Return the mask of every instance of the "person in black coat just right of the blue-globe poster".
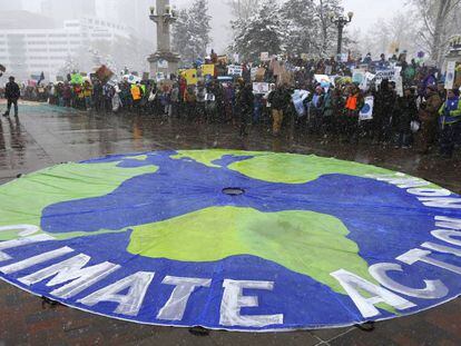
M 418 119 L 418 106 L 414 90 L 406 88 L 398 99 L 393 125 L 396 134 L 395 147 L 408 148 L 411 145 L 411 122 Z

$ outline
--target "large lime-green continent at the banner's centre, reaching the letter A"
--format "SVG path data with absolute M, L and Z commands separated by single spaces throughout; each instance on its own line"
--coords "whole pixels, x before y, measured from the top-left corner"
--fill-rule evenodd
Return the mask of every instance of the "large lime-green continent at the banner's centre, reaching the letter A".
M 128 251 L 178 261 L 217 261 L 252 255 L 344 293 L 330 275 L 346 269 L 374 281 L 343 223 L 313 211 L 261 212 L 212 207 L 134 228 Z

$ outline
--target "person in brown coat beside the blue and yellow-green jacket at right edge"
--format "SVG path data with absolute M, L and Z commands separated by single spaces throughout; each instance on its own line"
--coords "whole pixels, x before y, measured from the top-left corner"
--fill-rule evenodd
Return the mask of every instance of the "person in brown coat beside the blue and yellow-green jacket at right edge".
M 439 110 L 443 103 L 435 85 L 428 85 L 425 95 L 426 99 L 421 103 L 419 112 L 421 130 L 418 137 L 418 148 L 420 154 L 428 154 L 435 141 Z

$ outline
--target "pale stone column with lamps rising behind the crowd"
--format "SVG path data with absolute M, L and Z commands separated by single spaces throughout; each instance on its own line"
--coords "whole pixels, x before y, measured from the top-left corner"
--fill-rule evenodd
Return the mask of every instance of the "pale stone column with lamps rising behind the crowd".
M 150 8 L 150 20 L 157 24 L 157 51 L 147 60 L 150 63 L 150 78 L 163 72 L 166 78 L 176 73 L 179 56 L 171 52 L 170 27 L 176 21 L 176 14 L 169 6 L 169 0 L 157 0 L 157 8 Z

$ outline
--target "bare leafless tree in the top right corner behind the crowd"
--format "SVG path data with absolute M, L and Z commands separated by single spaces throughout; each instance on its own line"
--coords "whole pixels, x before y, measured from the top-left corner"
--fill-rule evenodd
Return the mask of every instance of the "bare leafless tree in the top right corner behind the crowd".
M 420 37 L 431 53 L 431 59 L 440 63 L 448 40 L 458 30 L 461 0 L 412 0 L 422 21 Z

